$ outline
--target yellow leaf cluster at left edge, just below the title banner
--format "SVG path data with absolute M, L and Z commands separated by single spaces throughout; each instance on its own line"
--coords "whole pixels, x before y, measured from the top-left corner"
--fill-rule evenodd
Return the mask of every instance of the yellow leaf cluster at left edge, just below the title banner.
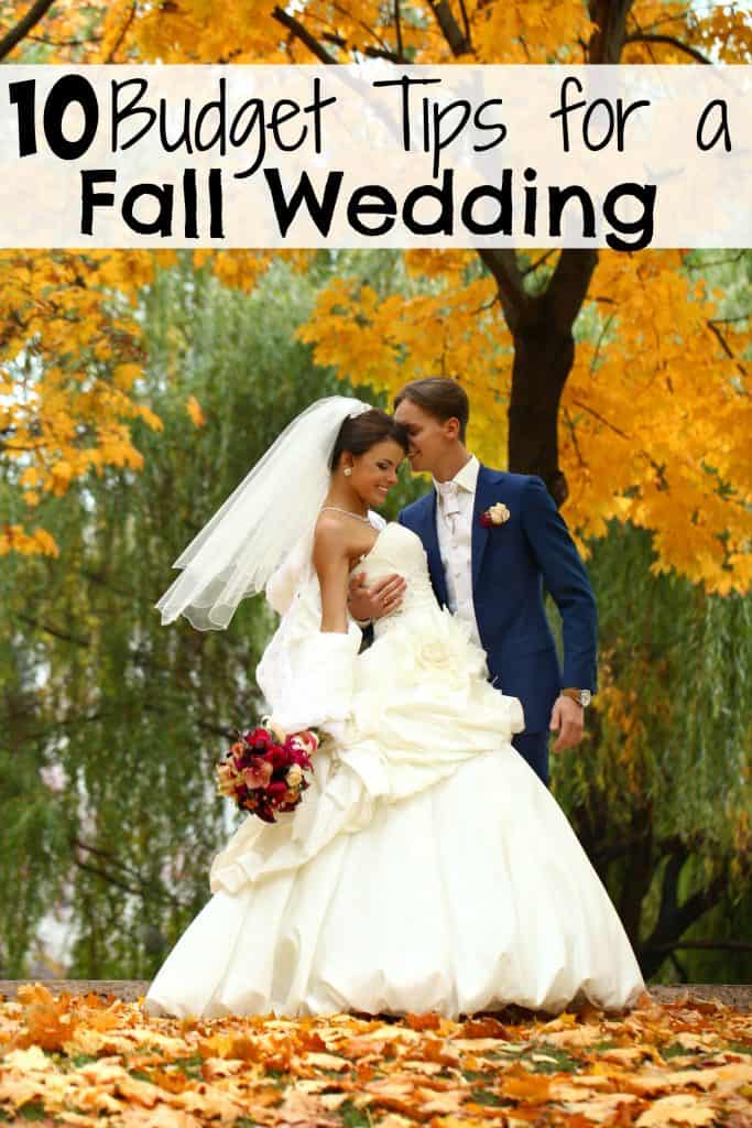
M 123 306 L 152 280 L 154 265 L 156 256 L 142 252 L 0 253 L 0 450 L 23 467 L 18 484 L 28 506 L 44 493 L 63 496 L 91 468 L 138 468 L 141 456 L 122 420 L 162 428 L 133 396 L 141 326 Z M 103 362 L 110 377 L 101 374 Z M 5 537 L 5 552 L 52 552 L 54 541 L 20 532 Z

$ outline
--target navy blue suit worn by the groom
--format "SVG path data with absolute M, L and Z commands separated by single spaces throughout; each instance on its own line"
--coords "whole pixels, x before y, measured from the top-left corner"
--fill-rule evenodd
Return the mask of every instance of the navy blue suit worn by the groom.
M 510 519 L 484 528 L 480 515 L 496 502 L 506 505 Z M 435 490 L 404 509 L 399 521 L 423 541 L 443 607 L 448 597 Z M 598 615 L 587 573 L 546 486 L 530 475 L 480 466 L 471 548 L 472 598 L 489 677 L 522 702 L 525 731 L 513 743 L 547 784 L 554 702 L 566 686 L 596 688 Z M 543 609 L 543 584 L 561 615 L 564 671 Z

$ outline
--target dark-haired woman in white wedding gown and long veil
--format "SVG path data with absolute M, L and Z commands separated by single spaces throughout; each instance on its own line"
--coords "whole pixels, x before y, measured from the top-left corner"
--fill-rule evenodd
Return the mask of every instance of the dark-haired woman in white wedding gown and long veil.
M 439 608 L 418 537 L 373 512 L 406 450 L 386 413 L 313 404 L 156 605 L 162 623 L 218 629 L 265 587 L 282 616 L 257 669 L 272 723 L 331 740 L 295 811 L 248 816 L 216 855 L 213 897 L 151 984 L 149 1014 L 620 1010 L 644 989 L 567 819 L 510 743 L 520 702 Z M 363 653 L 355 567 L 407 581 Z

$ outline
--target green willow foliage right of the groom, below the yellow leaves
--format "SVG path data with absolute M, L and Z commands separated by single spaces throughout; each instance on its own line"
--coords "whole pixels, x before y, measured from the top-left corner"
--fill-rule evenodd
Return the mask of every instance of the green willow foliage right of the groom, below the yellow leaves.
M 614 526 L 593 545 L 601 688 L 586 743 L 554 761 L 555 790 L 644 970 L 673 979 L 696 967 L 700 981 L 728 981 L 731 968 L 749 976 L 751 952 L 689 950 L 679 964 L 664 960 L 680 937 L 752 946 L 749 907 L 742 911 L 752 845 L 752 599 L 655 576 L 652 561 L 648 535 L 630 527 Z

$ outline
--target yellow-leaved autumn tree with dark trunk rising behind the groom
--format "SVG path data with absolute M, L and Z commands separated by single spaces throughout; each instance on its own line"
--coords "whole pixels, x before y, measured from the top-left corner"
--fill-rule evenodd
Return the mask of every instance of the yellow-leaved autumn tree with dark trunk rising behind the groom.
M 42 2 L 28 11 L 6 2 L 2 10 L 9 32 L 0 54 L 17 58 L 33 44 L 51 62 L 752 58 L 752 25 L 736 5 L 308 0 L 284 8 L 235 0 L 211 19 L 203 0 Z M 249 287 L 273 257 L 240 253 L 216 263 Z M 481 421 L 479 451 L 540 474 L 559 503 L 567 500 L 583 538 L 611 518 L 630 520 L 654 532 L 657 567 L 675 567 L 708 590 L 746 590 L 749 319 L 724 316 L 723 296 L 687 270 L 683 253 L 412 252 L 405 267 L 426 283 L 423 292 L 395 288 L 384 300 L 356 267 L 325 291 L 304 331 L 322 363 L 389 393 L 414 376 L 457 376 Z

